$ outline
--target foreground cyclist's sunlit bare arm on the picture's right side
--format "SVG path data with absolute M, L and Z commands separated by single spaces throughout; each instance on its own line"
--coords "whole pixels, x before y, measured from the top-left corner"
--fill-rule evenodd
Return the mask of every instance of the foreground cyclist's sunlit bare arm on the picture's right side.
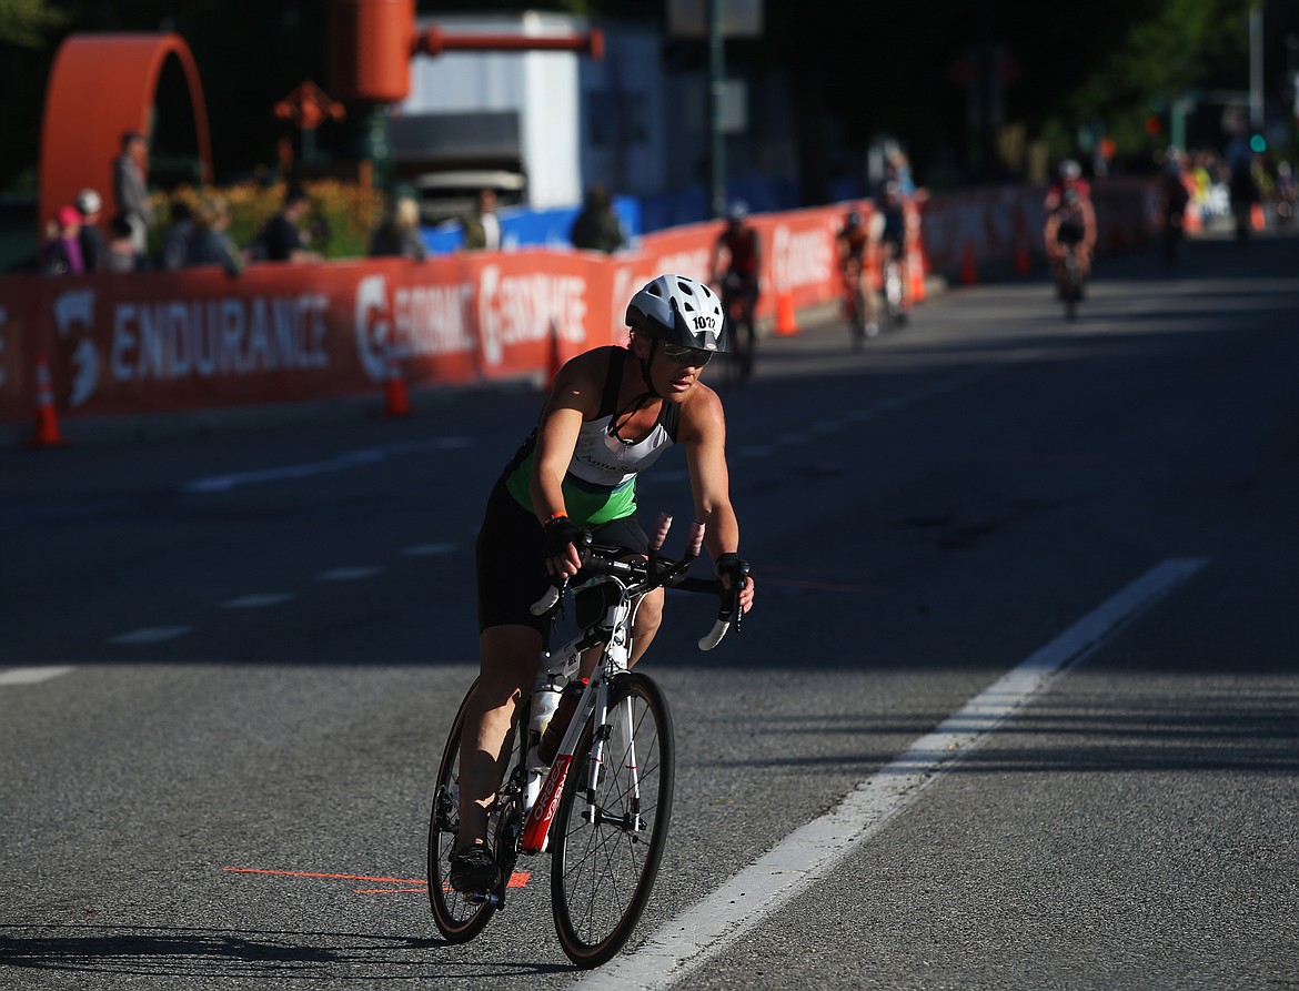
M 704 543 L 716 561 L 739 551 L 739 521 L 730 501 L 726 468 L 726 418 L 721 400 L 711 388 L 696 384 L 681 409 L 681 439 L 695 497 L 695 517 L 704 523 Z M 740 607 L 753 604 L 753 582 L 740 592 Z

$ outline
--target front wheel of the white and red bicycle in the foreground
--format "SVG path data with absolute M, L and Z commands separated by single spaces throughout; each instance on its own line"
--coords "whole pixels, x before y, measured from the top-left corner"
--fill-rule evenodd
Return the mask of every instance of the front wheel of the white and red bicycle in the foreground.
M 585 968 L 613 957 L 640 921 L 668 839 L 675 779 L 672 716 L 650 678 L 618 675 L 607 725 L 596 733 L 594 721 L 582 731 L 551 826 L 555 927 L 564 952 Z

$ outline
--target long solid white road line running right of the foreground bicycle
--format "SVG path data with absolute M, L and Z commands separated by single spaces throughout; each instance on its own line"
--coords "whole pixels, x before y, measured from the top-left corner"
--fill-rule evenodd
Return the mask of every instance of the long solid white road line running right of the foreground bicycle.
M 857 784 L 837 808 L 795 830 L 704 901 L 665 922 L 640 949 L 572 987 L 661 988 L 699 968 L 827 874 L 1017 708 L 1207 564 L 1208 558 L 1170 558 L 1151 569 Z

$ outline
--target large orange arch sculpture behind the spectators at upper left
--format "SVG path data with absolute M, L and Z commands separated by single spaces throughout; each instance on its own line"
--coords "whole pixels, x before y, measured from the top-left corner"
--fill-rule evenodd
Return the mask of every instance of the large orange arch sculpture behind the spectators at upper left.
M 116 212 L 113 158 L 125 131 L 149 134 L 158 75 L 173 56 L 190 90 L 201 178 L 212 182 L 208 109 L 184 39 L 175 34 L 69 35 L 55 56 L 45 94 L 38 218 L 42 232 L 45 221 L 87 186 L 104 199 L 105 216 Z

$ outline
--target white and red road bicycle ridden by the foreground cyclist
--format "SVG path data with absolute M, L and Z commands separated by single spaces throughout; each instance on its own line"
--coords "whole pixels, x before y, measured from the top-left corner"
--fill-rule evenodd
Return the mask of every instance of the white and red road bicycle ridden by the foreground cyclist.
M 704 527 L 698 522 L 691 523 L 683 557 L 660 557 L 670 523 L 670 517 L 660 517 L 648 557 L 634 561 L 620 560 L 625 549 L 592 546 L 587 538 L 572 591 L 581 633 L 540 656 L 533 696 L 518 708 L 530 713 L 527 725 L 516 717 L 503 748 L 503 762 L 513 755 L 514 766 L 492 799 L 487 830 L 501 881 L 482 895 L 456 891 L 447 882 L 459 846 L 460 736 L 472 687 L 461 703 L 438 768 L 429 820 L 429 899 L 447 940 L 477 936 L 505 905 L 518 857 L 547 852 L 555 927 L 574 964 L 607 962 L 640 920 L 668 836 L 675 744 L 662 691 L 627 668 L 635 608 L 643 594 L 660 586 L 717 595 L 717 620 L 699 640 L 700 649 L 711 651 L 733 625 L 739 627 L 739 590 L 747 582 L 747 571 L 729 590 L 720 581 L 685 574 L 703 546 Z M 547 588 L 533 613 L 555 609 L 566 586 Z M 599 660 L 582 679 L 582 657 L 595 649 Z M 569 705 L 575 703 L 568 722 L 565 697 Z M 553 746 L 560 734 L 547 765 L 542 744 Z

